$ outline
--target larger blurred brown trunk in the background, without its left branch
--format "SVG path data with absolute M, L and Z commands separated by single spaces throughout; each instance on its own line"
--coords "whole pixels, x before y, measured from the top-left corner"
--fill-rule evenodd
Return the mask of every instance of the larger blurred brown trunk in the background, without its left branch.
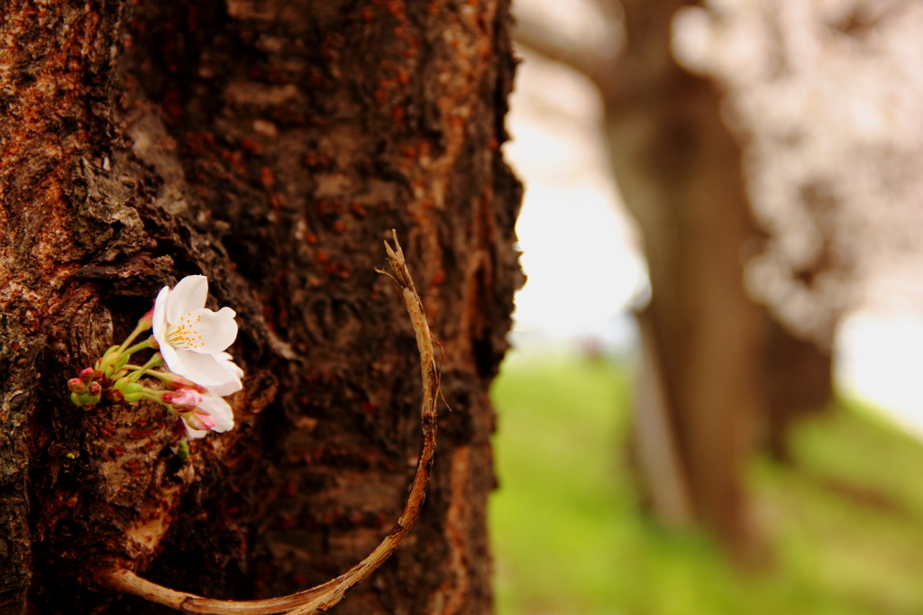
M 739 473 L 764 409 L 764 317 L 744 294 L 741 262 L 756 231 L 719 93 L 670 55 L 670 19 L 682 4 L 623 2 L 629 45 L 607 127 L 618 185 L 644 236 L 652 300 L 641 332 L 665 375 L 659 398 L 689 509 L 741 550 L 749 528 Z

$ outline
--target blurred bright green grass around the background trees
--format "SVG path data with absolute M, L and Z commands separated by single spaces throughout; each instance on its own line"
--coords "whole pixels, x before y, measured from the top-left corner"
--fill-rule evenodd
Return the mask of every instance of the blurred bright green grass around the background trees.
M 923 447 L 856 404 L 809 421 L 793 466 L 747 480 L 769 561 L 738 572 L 706 536 L 641 513 L 626 368 L 511 356 L 492 391 L 498 615 L 923 613 Z

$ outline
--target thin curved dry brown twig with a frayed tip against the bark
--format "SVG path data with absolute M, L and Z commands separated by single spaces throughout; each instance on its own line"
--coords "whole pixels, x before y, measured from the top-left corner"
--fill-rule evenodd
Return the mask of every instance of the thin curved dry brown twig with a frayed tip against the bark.
M 398 522 L 390 531 L 388 537 L 381 541 L 374 551 L 365 560 L 360 561 L 347 573 L 343 573 L 327 583 L 306 589 L 305 591 L 268 600 L 213 600 L 207 597 L 186 594 L 174 591 L 162 585 L 150 583 L 140 578 L 135 573 L 125 568 L 111 568 L 99 570 L 95 581 L 104 589 L 117 592 L 126 592 L 143 597 L 151 602 L 157 602 L 174 609 L 189 613 L 214 613 L 216 615 L 271 615 L 273 613 L 288 613 L 289 615 L 312 615 L 330 609 L 340 602 L 346 592 L 373 573 L 378 566 L 384 563 L 398 548 L 404 537 L 414 524 L 423 500 L 426 498 L 426 486 L 433 467 L 436 453 L 436 404 L 438 400 L 439 382 L 436 369 L 436 359 L 433 352 L 433 339 L 426 322 L 426 313 L 420 296 L 416 294 L 414 280 L 407 270 L 401 244 L 398 243 L 397 233 L 394 236 L 394 249 L 385 242 L 388 251 L 388 263 L 393 275 L 385 271 L 392 280 L 399 283 L 403 289 L 404 302 L 410 313 L 411 322 L 416 334 L 416 344 L 420 351 L 420 370 L 423 375 L 423 404 L 421 415 L 423 421 L 423 448 L 416 466 L 414 485 L 404 506 L 403 513 Z

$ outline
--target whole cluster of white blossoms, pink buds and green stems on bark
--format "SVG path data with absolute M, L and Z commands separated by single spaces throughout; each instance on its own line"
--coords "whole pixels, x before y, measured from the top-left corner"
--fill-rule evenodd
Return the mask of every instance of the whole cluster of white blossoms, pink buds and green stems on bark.
M 164 286 L 123 344 L 67 381 L 71 401 L 84 408 L 103 399 L 158 402 L 183 419 L 191 438 L 234 428 L 234 412 L 222 397 L 243 388 L 244 371 L 224 352 L 237 337 L 236 314 L 231 308 L 205 308 L 208 295 L 204 275 L 183 278 L 174 288 Z M 147 340 L 131 345 L 147 331 Z M 146 363 L 131 363 L 134 353 L 148 348 L 157 352 Z M 159 380 L 161 387 L 146 386 L 142 378 Z

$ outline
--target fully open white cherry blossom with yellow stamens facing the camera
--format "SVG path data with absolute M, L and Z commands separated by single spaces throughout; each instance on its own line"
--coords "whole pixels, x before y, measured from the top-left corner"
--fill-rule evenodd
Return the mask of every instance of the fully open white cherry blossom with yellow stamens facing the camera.
M 171 371 L 212 392 L 230 394 L 241 389 L 244 374 L 222 352 L 237 337 L 236 314 L 231 308 L 205 308 L 208 295 L 204 275 L 187 276 L 173 289 L 164 286 L 154 302 L 153 336 Z

